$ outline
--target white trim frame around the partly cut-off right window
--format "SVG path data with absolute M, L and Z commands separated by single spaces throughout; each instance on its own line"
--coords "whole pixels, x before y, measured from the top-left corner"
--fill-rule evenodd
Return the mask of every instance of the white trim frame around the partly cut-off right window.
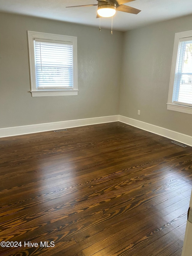
M 169 96 L 167 102 L 167 109 L 192 114 L 192 107 L 187 106 L 187 104 L 179 104 L 173 102 L 173 89 L 174 89 L 174 81 L 175 81 L 175 73 L 176 73 L 176 65 L 177 65 L 177 55 L 179 50 L 179 42 L 183 40 L 183 38 L 191 38 L 192 30 L 179 32 L 175 34 L 175 41 L 173 46 L 173 59 L 171 65 L 171 77 L 170 77 L 170 86 L 169 86 Z M 190 39 L 189 39 L 190 40 Z M 184 40 L 183 40 L 184 41 Z

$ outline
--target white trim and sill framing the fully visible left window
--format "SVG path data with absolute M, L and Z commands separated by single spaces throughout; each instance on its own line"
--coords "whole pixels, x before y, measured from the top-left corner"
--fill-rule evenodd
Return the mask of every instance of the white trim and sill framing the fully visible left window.
M 73 89 L 37 89 L 36 87 L 36 75 L 35 75 L 35 52 L 34 52 L 34 40 L 53 40 L 64 41 L 73 44 Z M 77 95 L 77 37 L 49 34 L 43 32 L 28 31 L 28 43 L 29 43 L 29 65 L 30 65 L 30 77 L 31 77 L 31 93 L 32 97 L 40 96 L 60 96 L 60 95 Z

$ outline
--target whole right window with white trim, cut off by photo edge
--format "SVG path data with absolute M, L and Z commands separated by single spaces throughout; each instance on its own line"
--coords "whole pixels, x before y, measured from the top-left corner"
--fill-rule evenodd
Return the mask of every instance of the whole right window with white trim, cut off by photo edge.
M 167 109 L 192 114 L 192 30 L 175 34 Z

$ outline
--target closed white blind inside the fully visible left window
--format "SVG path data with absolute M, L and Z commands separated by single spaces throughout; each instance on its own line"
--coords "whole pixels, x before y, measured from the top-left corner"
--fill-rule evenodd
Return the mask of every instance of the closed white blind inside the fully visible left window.
M 35 40 L 37 89 L 73 89 L 73 45 Z

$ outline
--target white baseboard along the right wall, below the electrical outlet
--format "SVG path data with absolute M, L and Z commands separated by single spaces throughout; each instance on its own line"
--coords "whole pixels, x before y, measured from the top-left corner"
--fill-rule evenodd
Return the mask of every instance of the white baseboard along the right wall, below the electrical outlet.
M 169 129 L 166 129 L 160 126 L 148 124 L 146 122 L 142 122 L 142 121 L 132 119 L 126 116 L 121 116 L 121 115 L 119 115 L 119 122 L 161 135 L 171 140 L 176 140 L 188 146 L 192 146 L 192 137 L 186 134 L 182 134 L 176 131 L 171 131 Z

